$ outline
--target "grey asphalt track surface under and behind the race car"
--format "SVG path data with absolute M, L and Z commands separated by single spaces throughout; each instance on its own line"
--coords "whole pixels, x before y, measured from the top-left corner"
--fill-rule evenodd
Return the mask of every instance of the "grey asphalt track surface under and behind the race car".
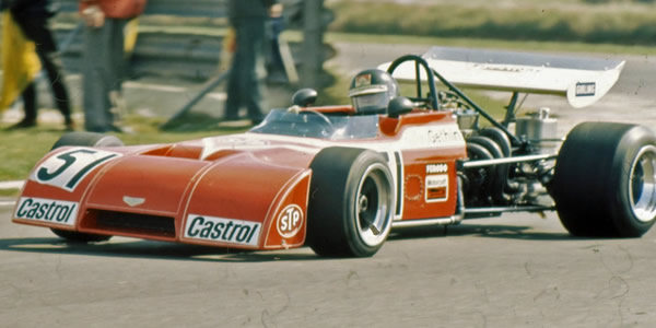
M 351 58 L 368 63 L 395 56 L 359 51 L 366 54 Z M 630 60 L 594 112 L 555 102 L 561 125 L 652 125 L 654 70 L 648 58 Z M 0 327 L 656 324 L 654 230 L 632 239 L 574 238 L 554 213 L 520 213 L 395 232 L 373 258 L 324 259 L 308 248 L 238 253 L 122 237 L 68 244 L 12 224 L 11 211 L 0 207 Z

